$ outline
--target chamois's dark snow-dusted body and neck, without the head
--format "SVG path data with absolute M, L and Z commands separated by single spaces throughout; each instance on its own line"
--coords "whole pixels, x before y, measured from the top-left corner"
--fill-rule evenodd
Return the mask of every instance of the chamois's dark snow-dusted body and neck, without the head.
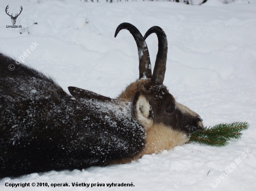
M 51 78 L 0 54 L 0 177 L 83 169 L 143 149 L 126 104 L 75 99 Z

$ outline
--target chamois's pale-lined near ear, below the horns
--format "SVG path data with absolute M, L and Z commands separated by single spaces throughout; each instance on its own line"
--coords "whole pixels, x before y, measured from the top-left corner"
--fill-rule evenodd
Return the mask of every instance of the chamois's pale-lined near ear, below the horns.
M 151 107 L 147 98 L 137 92 L 133 99 L 133 115 L 141 122 L 146 128 L 150 128 L 153 125 L 153 120 L 150 118 Z

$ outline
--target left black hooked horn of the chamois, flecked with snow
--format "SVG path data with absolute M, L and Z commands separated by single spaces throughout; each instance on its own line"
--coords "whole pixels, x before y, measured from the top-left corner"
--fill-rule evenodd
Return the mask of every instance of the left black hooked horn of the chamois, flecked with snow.
M 141 78 L 151 78 L 152 71 L 151 71 L 151 63 L 149 58 L 148 46 L 146 42 L 143 40 L 143 36 L 141 32 L 132 24 L 130 23 L 121 23 L 115 30 L 115 37 L 117 36 L 118 32 L 122 29 L 127 29 L 135 39 L 138 48 L 138 55 L 139 55 L 139 79 Z

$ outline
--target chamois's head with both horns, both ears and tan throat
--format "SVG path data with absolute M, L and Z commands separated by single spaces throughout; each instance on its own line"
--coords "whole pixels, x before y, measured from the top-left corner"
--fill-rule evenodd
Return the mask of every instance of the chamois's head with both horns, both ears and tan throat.
M 121 95 L 113 100 L 88 90 L 68 87 L 71 95 L 103 102 L 131 102 L 132 115 L 141 123 L 146 133 L 146 146 L 141 156 L 184 144 L 189 140 L 189 134 L 203 128 L 203 124 L 198 114 L 176 102 L 174 96 L 163 85 L 168 50 L 165 32 L 159 26 L 153 26 L 143 38 L 134 25 L 122 23 L 115 31 L 115 37 L 122 29 L 127 29 L 137 44 L 139 79 L 128 85 Z M 145 42 L 152 33 L 158 38 L 153 74 Z

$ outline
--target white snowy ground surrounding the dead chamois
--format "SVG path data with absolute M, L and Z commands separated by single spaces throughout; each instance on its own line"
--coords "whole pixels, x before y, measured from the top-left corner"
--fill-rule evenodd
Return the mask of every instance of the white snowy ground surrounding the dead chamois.
M 209 0 L 189 6 L 139 0 L 111 4 L 1 0 L 0 50 L 19 58 L 36 42 L 39 45 L 24 61 L 53 76 L 66 91 L 76 86 L 116 97 L 139 76 L 135 41 L 124 30 L 114 38 L 116 27 L 129 22 L 144 35 L 159 25 L 168 37 L 164 84 L 177 101 L 201 115 L 205 126 L 247 121 L 250 127 L 241 140 L 231 140 L 228 146 L 190 143 L 126 165 L 3 178 L 0 190 L 256 190 L 256 0 L 249 1 Z M 23 7 L 16 21 L 22 28 L 6 27 L 12 25 L 5 13 L 7 5 L 14 14 Z M 154 63 L 157 38 L 151 35 L 146 42 Z M 70 187 L 12 188 L 6 183 L 68 183 Z M 105 187 L 71 183 L 104 183 Z M 109 188 L 107 183 L 135 186 Z

